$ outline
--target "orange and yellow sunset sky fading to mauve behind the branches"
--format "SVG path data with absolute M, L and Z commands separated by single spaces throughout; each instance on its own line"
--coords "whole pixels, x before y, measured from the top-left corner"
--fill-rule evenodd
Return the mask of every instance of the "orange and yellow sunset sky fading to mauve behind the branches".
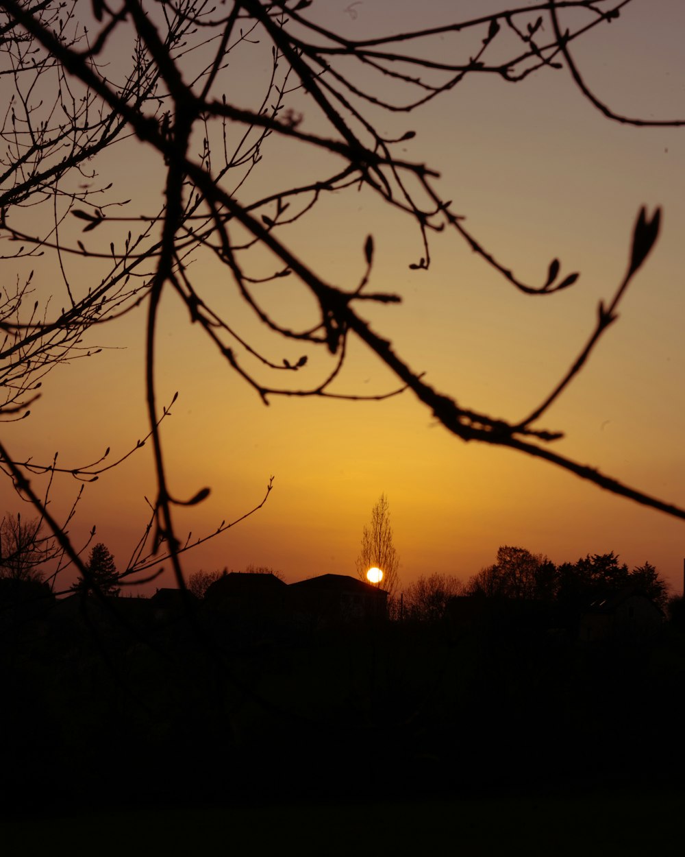
M 350 8 L 347 0 L 315 0 L 304 14 L 360 39 L 498 7 L 364 0 Z M 550 21 L 543 26 L 551 38 Z M 466 62 L 485 29 L 426 40 L 420 49 Z M 572 52 L 587 83 L 614 110 L 680 119 L 683 33 L 682 4 L 634 0 L 617 21 L 574 42 Z M 268 82 L 270 50 L 265 43 L 254 45 L 224 69 L 223 90 L 232 103 L 256 106 L 256 93 Z M 304 114 L 307 130 L 332 135 L 311 100 L 294 93 L 292 105 Z M 414 222 L 355 189 L 329 195 L 309 217 L 279 231 L 283 243 L 317 273 L 347 288 L 364 273 L 364 242 L 372 234 L 369 288 L 396 293 L 402 303 L 366 304 L 360 315 L 415 371 L 425 372 L 433 387 L 492 417 L 515 421 L 545 399 L 592 332 L 599 301 L 609 301 L 622 278 L 640 207 L 662 207 L 658 243 L 631 284 L 619 321 L 539 428 L 563 430 L 558 451 L 581 464 L 685 506 L 685 129 L 609 121 L 566 69 L 542 69 L 515 85 L 474 75 L 409 115 L 367 111 L 384 135 L 416 131 L 402 143 L 402 157 L 440 173 L 443 198 L 453 201 L 468 229 L 505 267 L 533 285 L 544 282 L 554 258 L 562 273 L 581 273 L 568 290 L 526 296 L 454 232 L 432 237 L 428 271 L 410 270 L 423 255 Z M 262 154 L 251 184 L 237 193 L 241 201 L 329 170 L 318 153 L 275 135 Z M 143 144 L 125 141 L 96 168 L 115 183 L 118 198 L 132 197 L 132 215 L 160 207 L 164 165 Z M 117 235 L 121 242 L 119 227 L 100 228 L 97 240 L 105 249 Z M 89 241 L 94 247 L 95 232 Z M 307 367 L 295 380 L 316 385 L 328 365 L 325 355 L 265 336 L 235 290 L 224 288 L 230 286 L 227 270 L 202 252 L 194 259 L 192 272 L 203 294 L 220 302 L 275 363 L 295 363 L 307 354 Z M 55 294 L 58 308 L 63 285 L 55 262 L 36 264 L 36 297 L 45 301 Z M 68 264 L 86 291 L 88 277 L 95 275 L 76 256 Z M 270 266 L 265 263 L 263 273 Z M 13 284 L 10 267 L 6 283 Z M 307 319 L 311 308 L 295 278 L 278 279 L 260 294 L 282 321 Z M 74 467 L 99 458 L 107 446 L 111 456 L 122 455 L 147 433 L 145 321 L 143 305 L 92 330 L 87 343 L 106 346 L 104 351 L 47 376 L 31 416 L 3 426 L 3 442 L 15 458 L 47 461 L 59 451 L 63 466 Z M 158 366 L 160 404 L 178 391 L 163 423 L 171 489 L 190 497 L 211 488 L 208 500 L 179 512 L 180 533 L 205 536 L 222 520 L 239 518 L 262 500 L 274 476 L 265 506 L 185 554 L 186 572 L 237 571 L 252 562 L 281 570 L 288 581 L 325 572 L 354 574 L 362 528 L 384 493 L 402 584 L 432 572 L 466 579 L 495 560 L 499 545 L 509 544 L 557 563 L 613 550 L 631 567 L 651 561 L 674 591 L 682 590 L 682 521 L 519 452 L 465 444 L 436 424 L 412 393 L 381 402 L 276 396 L 266 407 L 189 325 L 187 310 L 171 294 L 163 298 Z M 364 345 L 351 342 L 337 393 L 375 395 L 397 386 Z M 56 480 L 51 509 L 57 518 L 66 516 L 78 487 L 69 476 Z M 31 514 L 9 480 L 0 483 L 0 491 L 3 509 Z M 95 524 L 95 540 L 110 548 L 121 568 L 149 518 L 145 497 L 155 494 L 148 444 L 86 486 L 69 526 L 74 542 L 85 541 Z M 169 570 L 144 591 L 161 585 L 174 585 Z

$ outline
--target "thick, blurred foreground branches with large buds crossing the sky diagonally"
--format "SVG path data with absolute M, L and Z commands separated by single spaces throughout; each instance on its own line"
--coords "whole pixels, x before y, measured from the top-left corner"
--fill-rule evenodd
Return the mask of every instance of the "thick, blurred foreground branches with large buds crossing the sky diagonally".
M 82 3 L 80 8 L 88 9 L 87 33 L 75 12 L 63 14 L 57 2 L 27 5 L 0 0 L 0 51 L 9 69 L 9 77 L 3 80 L 13 81 L 19 92 L 16 107 L 3 111 L 3 138 L 9 146 L 3 180 L 9 189 L 3 185 L 0 192 L 0 229 L 20 247 L 13 258 L 50 252 L 60 266 L 70 256 L 108 268 L 102 279 L 93 279 L 82 297 L 73 294 L 65 275 L 63 313 L 37 317 L 29 311 L 28 317 L 12 321 L 13 308 L 19 312 L 26 303 L 30 276 L 16 294 L 7 297 L 9 316 L 3 318 L 3 327 L 10 339 L 15 338 L 10 351 L 19 361 L 15 363 L 19 368 L 12 371 L 25 381 L 18 395 L 9 393 L 5 413 L 21 412 L 32 398 L 35 366 L 80 353 L 74 349 L 81 333 L 103 314 L 122 315 L 144 300 L 146 405 L 157 476 L 151 555 L 164 546 L 180 583 L 179 554 L 188 543 L 176 534 L 176 509 L 200 502 L 209 489 L 200 488 L 189 499 L 176 496 L 158 428 L 166 411 L 158 392 L 155 345 L 160 303 L 172 292 L 185 303 L 189 318 L 216 347 L 227 369 L 264 402 L 281 395 L 365 398 L 340 392 L 336 386 L 349 345 L 358 341 L 395 376 L 398 387 L 386 395 L 410 392 L 456 437 L 543 458 L 615 494 L 685 518 L 682 508 L 555 452 L 551 442 L 563 433 L 539 423 L 616 321 L 629 283 L 657 240 L 658 209 L 640 210 L 626 272 L 613 295 L 599 304 L 593 331 L 568 371 L 526 417 L 510 421 L 472 410 L 456 392 L 432 387 L 421 368 L 411 366 L 393 349 L 382 328 L 366 321 L 362 311 L 370 304 L 383 307 L 399 301 L 394 294 L 368 288 L 374 274 L 372 236 L 360 236 L 360 276 L 343 285 L 326 279 L 294 242 L 289 243 L 288 226 L 307 217 L 322 200 L 364 190 L 415 226 L 420 256 L 408 258 L 408 267 L 415 272 L 430 267 L 432 236 L 447 231 L 525 294 L 550 296 L 574 285 L 578 274 L 562 272 L 557 259 L 549 266 L 545 263 L 547 274 L 541 283 L 521 279 L 465 225 L 462 213 L 440 187 L 438 173 L 423 159 L 402 156 L 402 144 L 414 137 L 414 130 L 389 136 L 380 129 L 386 117 L 409 116 L 433 99 L 447 99 L 474 76 L 494 75 L 525 85 L 530 75 L 564 65 L 583 96 L 608 120 L 682 125 L 685 120 L 618 115 L 591 91 L 575 62 L 576 40 L 611 24 L 626 4 L 619 0 L 552 0 L 539 7 L 510 4 L 471 19 L 460 19 L 456 7 L 454 19 L 439 26 L 352 39 L 320 23 L 308 0 L 236 0 L 216 10 L 201 0 L 155 4 L 122 0 L 116 8 Z M 566 19 L 559 18 L 569 12 L 572 24 L 567 29 Z M 433 45 L 456 34 L 461 41 L 452 57 L 437 61 Z M 271 53 L 270 76 L 264 93 L 246 107 L 227 96 L 226 57 L 229 51 L 255 50 L 256 44 L 266 45 Z M 122 45 L 130 45 L 131 50 L 123 50 Z M 110 69 L 106 63 L 115 46 L 117 57 L 133 57 L 121 81 L 116 80 L 118 67 Z M 45 74 L 46 69 L 57 75 L 57 93 L 45 102 L 56 108 L 46 108 L 44 118 L 31 93 L 36 75 Z M 316 121 L 308 116 L 304 122 L 296 109 L 300 102 L 289 101 L 289 96 L 295 98 L 291 93 L 307 97 L 307 111 Z M 158 169 L 164 171 L 161 210 L 128 214 L 120 208 L 122 199 L 109 195 L 109 185 L 83 181 L 84 175 L 92 177 L 86 165 L 91 159 L 97 163 L 98 154 L 110 147 L 116 135 L 134 135 L 146 152 L 156 156 Z M 276 140 L 311 155 L 310 162 L 322 165 L 319 174 L 292 184 L 289 172 L 281 170 L 272 186 L 251 186 L 247 179 L 259 165 L 267 141 L 271 145 Z M 86 189 L 81 187 L 84 184 Z M 20 205 L 39 201 L 57 205 L 53 223 L 42 234 L 14 213 Z M 83 230 L 80 237 L 76 228 Z M 237 329 L 224 313 L 223 288 L 220 298 L 194 273 L 190 262 L 200 251 L 225 267 L 226 282 L 259 322 L 261 333 L 256 339 Z M 284 277 L 290 278 L 302 297 L 301 316 L 292 324 L 283 323 L 269 309 L 260 291 L 266 282 Z M 54 348 L 51 345 L 60 342 Z M 33 345 L 43 349 L 40 353 L 47 363 L 22 357 Z M 309 383 L 295 381 L 316 352 L 325 356 L 323 375 Z M 4 444 L 0 444 L 0 460 L 22 497 L 45 518 L 69 561 L 81 568 L 64 526 L 51 516 L 27 479 L 35 464 L 28 459 L 17 461 Z M 56 464 L 45 464 L 48 478 L 57 470 Z M 80 467 L 64 470 L 78 477 L 84 473 Z M 145 563 L 138 567 L 142 566 Z

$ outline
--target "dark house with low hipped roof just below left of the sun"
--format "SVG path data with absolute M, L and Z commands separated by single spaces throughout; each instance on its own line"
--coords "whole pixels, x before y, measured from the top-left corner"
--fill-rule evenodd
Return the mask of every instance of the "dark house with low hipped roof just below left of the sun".
M 385 619 L 388 593 L 345 574 L 319 577 L 290 584 L 290 609 L 317 625 Z

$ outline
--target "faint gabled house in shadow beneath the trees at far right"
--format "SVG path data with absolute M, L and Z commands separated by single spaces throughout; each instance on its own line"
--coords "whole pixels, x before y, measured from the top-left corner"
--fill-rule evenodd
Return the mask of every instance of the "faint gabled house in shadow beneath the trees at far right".
M 587 643 L 625 633 L 650 632 L 661 626 L 664 618 L 651 598 L 626 586 L 595 598 L 581 612 L 579 638 Z

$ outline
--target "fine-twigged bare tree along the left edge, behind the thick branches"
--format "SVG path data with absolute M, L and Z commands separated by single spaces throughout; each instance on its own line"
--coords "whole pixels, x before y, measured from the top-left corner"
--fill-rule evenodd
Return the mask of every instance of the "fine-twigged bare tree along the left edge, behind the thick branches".
M 188 39 L 207 15 L 211 10 L 196 0 L 181 0 L 164 9 L 156 21 L 156 32 L 159 50 L 164 51 L 168 62 L 201 47 L 201 39 L 193 46 L 188 45 Z M 115 178 L 110 175 L 111 165 L 103 178 L 98 175 L 100 160 L 108 158 L 110 148 L 131 135 L 122 109 L 135 111 L 160 127 L 169 120 L 169 112 L 164 111 L 168 93 L 163 66 L 147 51 L 136 27 L 128 26 L 125 14 L 111 14 L 113 20 L 103 22 L 103 17 L 109 16 L 110 9 L 85 0 L 69 6 L 59 0 L 18 4 L 15 9 L 0 5 L 4 102 L 0 119 L 4 147 L 0 156 L 0 237 L 5 242 L 0 258 L 5 266 L 14 263 L 17 272 L 15 286 L 5 285 L 0 291 L 0 420 L 28 417 L 29 406 L 40 398 L 40 388 L 51 369 L 98 353 L 97 346 L 83 345 L 85 334 L 104 320 L 125 315 L 140 301 L 141 293 L 149 291 L 150 271 L 159 255 L 164 207 L 140 219 L 126 219 L 128 235 L 124 229 L 121 252 L 113 242 L 104 254 L 99 248 L 86 248 L 92 230 L 111 214 L 125 211 L 129 202 L 111 180 Z M 95 34 L 98 23 L 103 26 Z M 110 49 L 115 29 L 117 46 L 111 62 L 104 54 Z M 50 33 L 60 50 L 46 50 L 40 33 Z M 128 39 L 128 63 L 122 61 L 126 51 L 122 51 L 123 41 L 119 39 Z M 237 39 L 238 45 L 241 42 L 244 40 Z M 234 47 L 224 45 L 224 56 Z M 90 74 L 107 81 L 116 92 L 116 104 L 102 99 L 98 87 L 79 81 L 69 57 L 85 57 Z M 211 73 L 213 58 L 208 63 L 200 76 Z M 280 104 L 280 99 L 274 100 Z M 259 130 L 249 140 L 246 137 L 224 169 L 241 169 L 250 159 L 256 160 L 264 134 Z M 121 177 L 121 172 L 117 173 Z M 178 225 L 192 218 L 198 206 L 197 199 L 188 201 Z M 110 220 L 120 222 L 116 216 Z M 115 240 L 118 244 L 119 239 Z M 8 249 L 8 241 L 14 249 Z M 180 251 L 181 258 L 198 243 L 200 239 L 191 241 Z M 43 256 L 49 260 L 46 265 L 41 264 Z M 90 267 L 84 277 L 86 265 Z M 57 279 L 55 271 L 59 272 Z M 170 415 L 168 406 L 161 411 L 157 424 Z M 79 505 L 82 484 L 63 518 L 48 510 L 55 477 L 94 482 L 144 446 L 146 440 L 146 436 L 140 438 L 115 460 L 111 460 L 110 446 L 106 446 L 98 460 L 68 464 L 59 462 L 57 453 L 45 462 L 34 456 L 15 458 L 7 446 L 0 445 L 0 469 L 9 476 L 21 499 L 40 510 L 39 518 L 55 536 L 50 556 L 55 560 L 52 581 L 71 566 L 83 576 L 81 555 L 95 531 L 93 528 L 86 544 L 79 547 L 69 536 L 68 525 Z M 45 477 L 44 491 L 35 489 L 37 476 Z M 266 496 L 270 489 L 271 484 Z M 223 521 L 193 544 L 235 523 Z M 164 558 L 164 548 L 170 546 L 164 538 L 153 539 L 154 535 L 152 525 L 148 525 L 120 577 L 145 572 Z M 173 549 L 178 552 L 191 546 L 189 541 L 174 542 Z

